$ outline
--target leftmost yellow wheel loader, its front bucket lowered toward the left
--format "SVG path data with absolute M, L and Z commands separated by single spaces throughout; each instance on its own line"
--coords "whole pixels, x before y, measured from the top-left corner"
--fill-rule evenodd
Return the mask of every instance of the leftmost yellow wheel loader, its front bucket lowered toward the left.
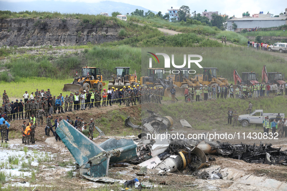
M 72 83 L 67 83 L 64 85 L 63 92 L 79 92 L 79 91 L 89 91 L 90 88 L 98 89 L 101 91 L 102 87 L 106 83 L 102 82 L 101 70 L 96 67 L 82 67 L 82 76 L 77 75 Z

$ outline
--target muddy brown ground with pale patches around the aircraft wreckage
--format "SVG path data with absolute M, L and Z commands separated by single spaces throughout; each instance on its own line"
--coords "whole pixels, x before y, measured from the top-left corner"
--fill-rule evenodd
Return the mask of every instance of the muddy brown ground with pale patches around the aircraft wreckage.
M 169 101 L 166 101 L 167 103 Z M 165 102 L 164 102 L 165 103 Z M 153 107 L 156 107 L 155 105 Z M 132 129 L 130 127 L 125 127 L 123 125 L 123 120 L 120 119 L 120 116 L 116 118 L 116 120 L 112 120 L 113 113 L 112 112 L 120 112 L 122 116 L 132 117 L 132 122 L 137 124 L 141 120 L 141 106 L 133 106 L 130 108 L 127 107 L 104 107 L 101 109 L 92 109 L 91 111 L 77 111 L 77 112 L 68 112 L 66 114 L 62 114 L 63 117 L 67 115 L 70 116 L 73 120 L 76 116 L 80 116 L 84 118 L 84 121 L 89 120 L 90 118 L 94 118 L 95 120 L 101 120 L 102 117 L 108 118 L 110 121 L 110 129 L 105 129 L 101 127 L 107 136 L 97 137 L 93 141 L 97 144 L 106 141 L 109 138 L 123 138 L 123 131 L 127 131 L 129 134 L 125 137 L 126 139 L 131 139 L 129 135 L 137 136 L 140 131 Z M 61 116 L 61 115 L 60 115 Z M 203 133 L 205 130 L 195 130 L 187 127 L 182 127 L 179 124 L 178 119 L 174 120 L 174 127 L 172 128 L 172 132 L 179 133 Z M 22 124 L 22 120 L 12 121 L 10 132 L 16 131 L 20 132 L 20 126 Z M 44 121 L 45 124 L 45 121 Z M 53 124 L 53 123 L 52 123 Z M 96 124 L 97 126 L 101 126 L 101 123 Z M 131 180 L 134 178 L 139 179 L 141 182 L 148 182 L 153 185 L 155 188 L 153 190 L 196 190 L 196 191 L 205 191 L 205 190 L 220 190 L 220 191 L 275 191 L 276 189 L 270 188 L 266 185 L 253 185 L 253 183 L 246 183 L 243 179 L 245 176 L 248 177 L 260 177 L 261 179 L 266 179 L 267 182 L 270 182 L 270 179 L 278 180 L 281 184 L 287 183 L 287 167 L 284 165 L 268 165 L 268 164 L 252 164 L 247 163 L 243 160 L 230 159 L 216 155 L 207 155 L 207 158 L 214 158 L 215 161 L 209 161 L 207 166 L 203 168 L 203 170 L 208 170 L 209 167 L 217 167 L 219 166 L 222 172 L 225 171 L 235 171 L 236 175 L 240 175 L 241 179 L 236 179 L 236 177 L 230 178 L 228 174 L 223 174 L 223 179 L 219 180 L 209 180 L 199 178 L 197 171 L 192 172 L 189 169 L 177 171 L 175 173 L 167 173 L 166 175 L 158 175 L 157 172 L 153 170 L 148 170 L 147 174 L 144 176 L 137 176 L 135 173 L 139 173 L 139 167 L 136 165 L 130 165 L 128 167 L 111 167 L 109 168 L 109 176 L 114 179 L 120 180 L 119 183 L 116 184 L 103 184 L 96 183 L 90 180 L 84 179 L 83 176 L 80 175 L 79 170 L 75 168 L 75 160 L 72 155 L 69 153 L 67 147 L 62 142 L 56 142 L 54 137 L 45 136 L 44 125 L 37 127 L 36 130 L 36 143 L 35 145 L 29 145 L 29 150 L 48 153 L 47 156 L 51 156 L 51 160 L 39 162 L 38 167 L 33 167 L 36 170 L 36 179 L 32 181 L 30 176 L 27 177 L 14 177 L 8 178 L 5 187 L 8 185 L 13 185 L 13 188 L 18 188 L 19 186 L 31 187 L 33 190 L 34 185 L 37 187 L 38 191 L 41 190 L 119 190 L 123 188 L 122 183 L 125 180 Z M 221 130 L 213 129 L 212 131 L 221 132 L 221 133 L 232 133 L 234 129 L 229 126 L 224 126 Z M 240 130 L 242 130 L 240 128 Z M 250 132 L 251 129 L 244 129 L 246 132 Z M 212 132 L 210 131 L 210 132 Z M 261 129 L 257 129 L 255 131 L 261 131 Z M 20 134 L 20 133 L 19 133 Z M 19 137 L 15 137 L 14 139 L 9 137 L 9 146 L 8 148 L 0 147 L 0 151 L 13 150 L 15 153 L 18 150 L 23 149 L 24 145 L 21 143 L 21 139 Z M 229 142 L 229 143 L 237 143 L 238 141 L 234 140 L 220 140 L 220 142 Z M 283 147 L 283 150 L 287 149 L 286 146 L 287 138 L 282 138 L 279 140 L 272 140 L 272 144 L 274 147 Z M 256 143 L 259 144 L 260 140 L 249 140 L 244 143 Z M 63 166 L 63 161 L 66 161 L 67 164 Z M 71 162 L 69 162 L 71 161 Z M 33 170 L 30 169 L 30 170 Z M 226 170 L 227 169 L 227 170 Z M 73 177 L 69 177 L 68 173 L 72 170 Z M 21 184 L 19 182 L 26 181 L 28 183 Z M 146 183 L 146 184 L 148 184 Z M 28 184 L 28 185 L 27 185 Z M 12 188 L 12 190 L 13 190 Z

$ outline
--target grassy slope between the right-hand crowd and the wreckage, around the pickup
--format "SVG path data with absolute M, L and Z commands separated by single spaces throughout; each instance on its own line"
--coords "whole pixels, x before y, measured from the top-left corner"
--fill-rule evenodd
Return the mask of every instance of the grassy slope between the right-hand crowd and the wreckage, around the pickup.
M 164 98 L 170 100 L 170 98 Z M 285 107 L 286 96 L 263 97 L 259 99 L 217 99 L 193 103 L 185 103 L 184 97 L 179 97 L 179 101 L 169 105 L 149 105 L 143 106 L 142 112 L 145 115 L 148 110 L 159 112 L 163 116 L 171 116 L 175 124 L 179 124 L 180 119 L 186 119 L 194 129 L 197 130 L 223 130 L 229 128 L 227 126 L 227 112 L 229 108 L 233 111 L 237 110 L 237 114 L 246 114 L 248 102 L 253 104 L 253 110 L 260 109 L 264 112 L 285 113 L 287 115 L 287 108 Z M 240 130 L 254 130 L 257 126 L 251 125 L 244 128 L 237 123 L 236 129 Z

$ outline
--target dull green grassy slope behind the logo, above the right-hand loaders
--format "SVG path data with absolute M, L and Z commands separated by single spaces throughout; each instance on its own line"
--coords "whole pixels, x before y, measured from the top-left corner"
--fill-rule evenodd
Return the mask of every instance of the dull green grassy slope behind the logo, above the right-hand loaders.
M 175 51 L 174 48 L 164 48 L 166 52 Z M 145 48 L 143 51 L 156 52 L 161 49 L 158 48 Z M 203 67 L 216 67 L 218 68 L 217 75 L 227 78 L 229 83 L 234 83 L 233 72 L 237 70 L 241 76 L 242 72 L 255 72 L 258 81 L 261 82 L 261 72 L 264 65 L 267 65 L 268 72 L 280 71 L 287 75 L 287 63 L 283 58 L 278 58 L 264 51 L 256 51 L 250 48 L 182 48 L 177 49 L 178 52 L 175 56 L 175 63 L 182 64 L 183 54 L 192 52 L 192 54 L 202 55 L 203 61 L 200 64 Z M 148 60 L 149 56 L 143 54 L 143 60 Z M 159 62 L 164 62 L 162 56 L 158 57 Z M 149 63 L 142 64 L 142 71 L 145 73 Z M 153 63 L 152 67 L 162 67 L 160 64 Z M 191 69 L 196 70 L 196 74 L 200 73 L 200 69 L 194 64 Z M 146 75 L 146 74 L 145 74 Z

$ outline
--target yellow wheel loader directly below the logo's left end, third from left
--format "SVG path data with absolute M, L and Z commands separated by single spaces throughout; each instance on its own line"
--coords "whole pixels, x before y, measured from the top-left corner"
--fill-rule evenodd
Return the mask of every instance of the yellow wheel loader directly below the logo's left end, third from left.
M 145 87 L 171 88 L 172 80 L 163 79 L 164 68 L 148 68 L 148 76 L 140 77 L 140 84 Z

